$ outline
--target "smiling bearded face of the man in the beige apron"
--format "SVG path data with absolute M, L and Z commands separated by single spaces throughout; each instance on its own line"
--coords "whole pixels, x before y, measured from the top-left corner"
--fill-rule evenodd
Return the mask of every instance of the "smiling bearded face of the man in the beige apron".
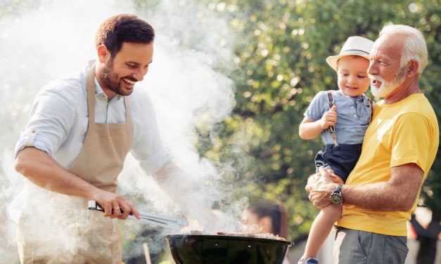
M 98 46 L 97 78 L 108 100 L 116 94 L 130 95 L 136 81 L 142 81 L 148 72 L 148 65 L 153 60 L 153 42 L 139 44 L 124 42 L 114 58 L 106 46 Z

